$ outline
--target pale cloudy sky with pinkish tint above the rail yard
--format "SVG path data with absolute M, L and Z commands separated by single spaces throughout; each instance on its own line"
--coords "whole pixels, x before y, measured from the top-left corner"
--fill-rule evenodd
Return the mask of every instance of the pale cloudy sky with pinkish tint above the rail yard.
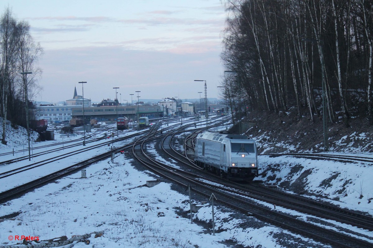
M 217 97 L 223 67 L 220 0 L 3 0 L 26 20 L 44 49 L 43 87 L 36 101 L 59 102 L 78 94 L 93 102 L 114 99 Z M 3 12 L 2 10 L 2 12 Z M 120 94 L 119 94 L 120 93 Z M 121 98 L 121 99 L 120 99 Z M 134 97 L 135 101 L 135 97 Z

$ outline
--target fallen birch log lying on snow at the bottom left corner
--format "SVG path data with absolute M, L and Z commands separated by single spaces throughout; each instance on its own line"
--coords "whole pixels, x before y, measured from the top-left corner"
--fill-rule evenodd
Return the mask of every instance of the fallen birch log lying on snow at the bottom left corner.
M 0 246 L 0 248 L 43 248 L 43 247 L 59 247 L 63 245 L 72 244 L 75 241 L 84 241 L 87 242 L 88 238 L 91 238 L 92 234 L 95 234 L 95 238 L 101 237 L 104 234 L 104 231 L 101 232 L 91 232 L 84 235 L 75 235 L 72 236 L 72 238 L 68 240 L 61 240 L 61 241 L 55 241 L 55 242 L 40 242 L 36 244 L 28 244 L 28 245 L 6 245 L 6 246 Z M 89 243 L 88 243 L 89 244 Z

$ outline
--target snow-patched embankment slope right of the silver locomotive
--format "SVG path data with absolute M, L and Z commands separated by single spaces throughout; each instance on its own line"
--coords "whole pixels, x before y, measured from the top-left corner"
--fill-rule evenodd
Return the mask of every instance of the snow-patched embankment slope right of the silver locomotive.
M 354 155 L 373 158 L 370 154 Z M 262 169 L 259 179 L 265 183 L 295 193 L 306 192 L 343 208 L 373 215 L 373 163 L 261 155 L 258 164 Z

